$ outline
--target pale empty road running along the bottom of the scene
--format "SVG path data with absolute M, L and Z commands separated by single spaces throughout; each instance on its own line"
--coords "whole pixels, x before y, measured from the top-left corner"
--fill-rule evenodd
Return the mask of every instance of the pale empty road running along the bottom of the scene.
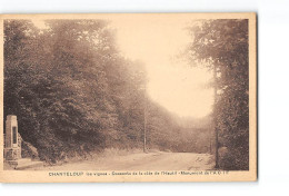
M 201 170 L 213 167 L 212 156 L 192 153 L 138 153 L 49 166 L 44 170 Z

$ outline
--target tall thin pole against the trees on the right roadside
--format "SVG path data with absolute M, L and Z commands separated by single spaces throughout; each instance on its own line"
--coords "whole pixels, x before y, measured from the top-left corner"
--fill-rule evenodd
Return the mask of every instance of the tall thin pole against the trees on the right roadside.
M 217 105 L 217 69 L 216 69 L 216 65 L 213 66 L 213 127 L 215 127 L 215 139 L 216 139 L 216 154 L 215 154 L 215 159 L 216 159 L 216 169 L 219 168 L 219 133 L 218 133 L 218 128 L 217 128 L 217 112 L 216 112 L 216 105 Z

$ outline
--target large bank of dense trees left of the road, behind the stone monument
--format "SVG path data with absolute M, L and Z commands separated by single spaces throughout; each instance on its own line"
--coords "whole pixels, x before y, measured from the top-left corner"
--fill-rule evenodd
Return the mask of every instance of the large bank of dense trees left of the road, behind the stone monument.
M 18 116 L 22 138 L 42 160 L 141 148 L 144 107 L 149 148 L 206 151 L 186 145 L 198 134 L 180 137 L 181 127 L 148 98 L 144 66 L 120 55 L 107 21 L 46 23 L 4 21 L 4 116 Z

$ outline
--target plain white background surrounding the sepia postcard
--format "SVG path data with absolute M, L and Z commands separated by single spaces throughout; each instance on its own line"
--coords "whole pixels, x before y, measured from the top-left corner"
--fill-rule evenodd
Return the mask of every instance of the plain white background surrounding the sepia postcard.
M 289 1 L 286 0 L 2 0 L 1 13 L 258 12 L 259 182 L 0 185 L 1 195 L 261 195 L 289 193 Z

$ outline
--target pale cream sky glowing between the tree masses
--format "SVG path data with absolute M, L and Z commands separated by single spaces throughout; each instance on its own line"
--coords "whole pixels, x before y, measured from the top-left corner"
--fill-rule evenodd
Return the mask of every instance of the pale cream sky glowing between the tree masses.
M 122 53 L 144 62 L 150 98 L 180 117 L 201 118 L 211 112 L 213 91 L 203 88 L 211 74 L 177 58 L 191 41 L 186 30 L 190 21 L 158 16 L 119 17 L 111 19 L 111 26 Z

